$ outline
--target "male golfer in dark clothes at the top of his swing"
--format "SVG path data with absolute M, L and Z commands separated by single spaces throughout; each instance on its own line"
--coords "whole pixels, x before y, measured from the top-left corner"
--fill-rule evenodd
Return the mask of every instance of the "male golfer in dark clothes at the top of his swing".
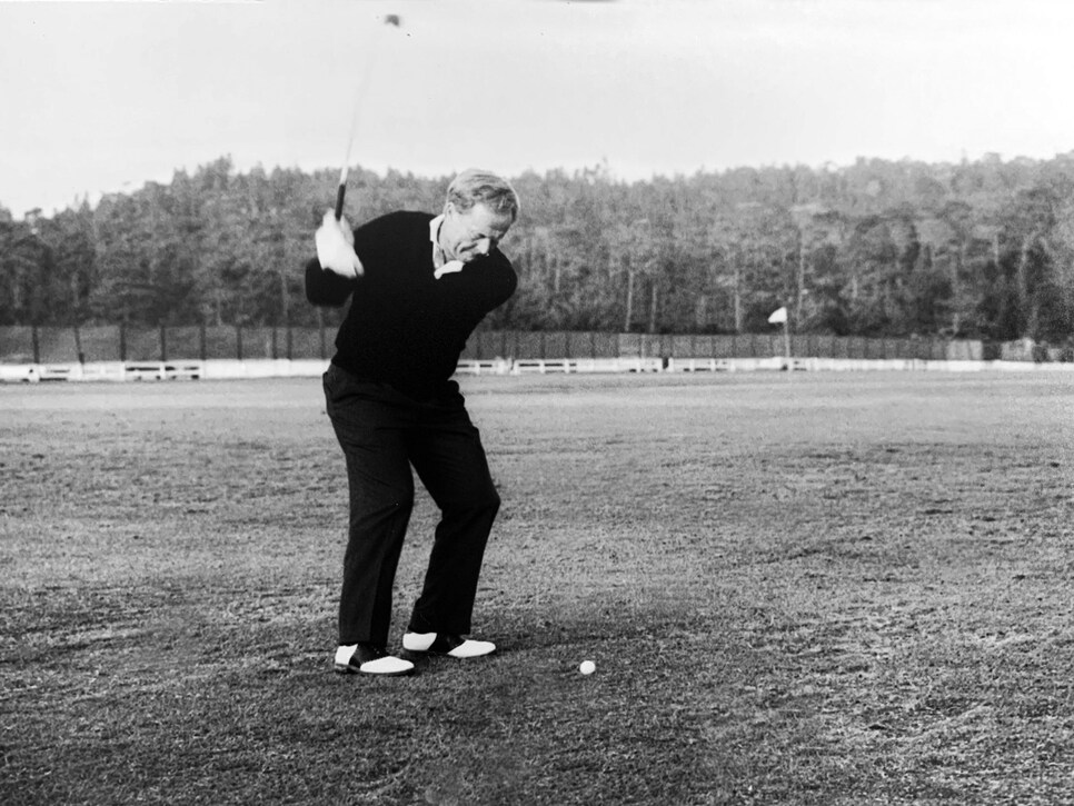
M 500 499 L 450 377 L 474 328 L 515 292 L 518 278 L 498 245 L 517 216 L 511 186 L 471 169 L 451 182 L 439 216 L 392 212 L 351 231 L 329 211 L 317 230 L 306 296 L 336 307 L 350 298 L 324 378 L 350 496 L 337 671 L 414 670 L 387 650 L 411 468 L 440 523 L 402 646 L 455 658 L 496 648 L 466 636 Z

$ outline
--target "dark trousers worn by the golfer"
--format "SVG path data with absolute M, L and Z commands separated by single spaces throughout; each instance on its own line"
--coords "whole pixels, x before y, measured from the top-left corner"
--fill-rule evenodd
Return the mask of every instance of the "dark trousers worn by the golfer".
M 339 643 L 387 645 L 391 587 L 414 507 L 411 466 L 441 517 L 408 630 L 469 633 L 500 499 L 458 386 L 419 402 L 331 365 L 325 399 L 350 491 Z

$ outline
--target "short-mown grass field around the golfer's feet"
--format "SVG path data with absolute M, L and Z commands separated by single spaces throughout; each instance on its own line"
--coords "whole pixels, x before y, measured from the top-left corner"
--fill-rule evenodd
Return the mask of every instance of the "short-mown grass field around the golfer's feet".
M 0 803 L 1074 803 L 1074 378 L 464 390 L 500 653 L 365 679 L 318 381 L 0 387 Z

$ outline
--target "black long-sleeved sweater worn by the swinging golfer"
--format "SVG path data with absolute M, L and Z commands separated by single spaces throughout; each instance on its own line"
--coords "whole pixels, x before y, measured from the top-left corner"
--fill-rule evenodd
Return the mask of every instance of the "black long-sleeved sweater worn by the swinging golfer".
M 392 212 L 355 230 L 365 268 L 357 279 L 306 266 L 306 298 L 350 310 L 336 336 L 332 364 L 366 380 L 390 384 L 418 400 L 455 374 L 474 328 L 514 292 L 518 277 L 494 249 L 461 271 L 434 277 L 426 212 Z

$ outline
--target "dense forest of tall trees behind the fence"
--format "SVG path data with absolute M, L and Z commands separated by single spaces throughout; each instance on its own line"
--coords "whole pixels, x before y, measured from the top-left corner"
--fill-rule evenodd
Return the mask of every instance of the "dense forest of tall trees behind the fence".
M 347 215 L 438 210 L 449 180 L 351 170 Z M 301 269 L 336 181 L 221 158 L 51 218 L 0 207 L 0 325 L 314 324 Z M 520 283 L 489 327 L 749 332 L 785 305 L 797 332 L 1074 334 L 1074 152 L 511 181 Z

